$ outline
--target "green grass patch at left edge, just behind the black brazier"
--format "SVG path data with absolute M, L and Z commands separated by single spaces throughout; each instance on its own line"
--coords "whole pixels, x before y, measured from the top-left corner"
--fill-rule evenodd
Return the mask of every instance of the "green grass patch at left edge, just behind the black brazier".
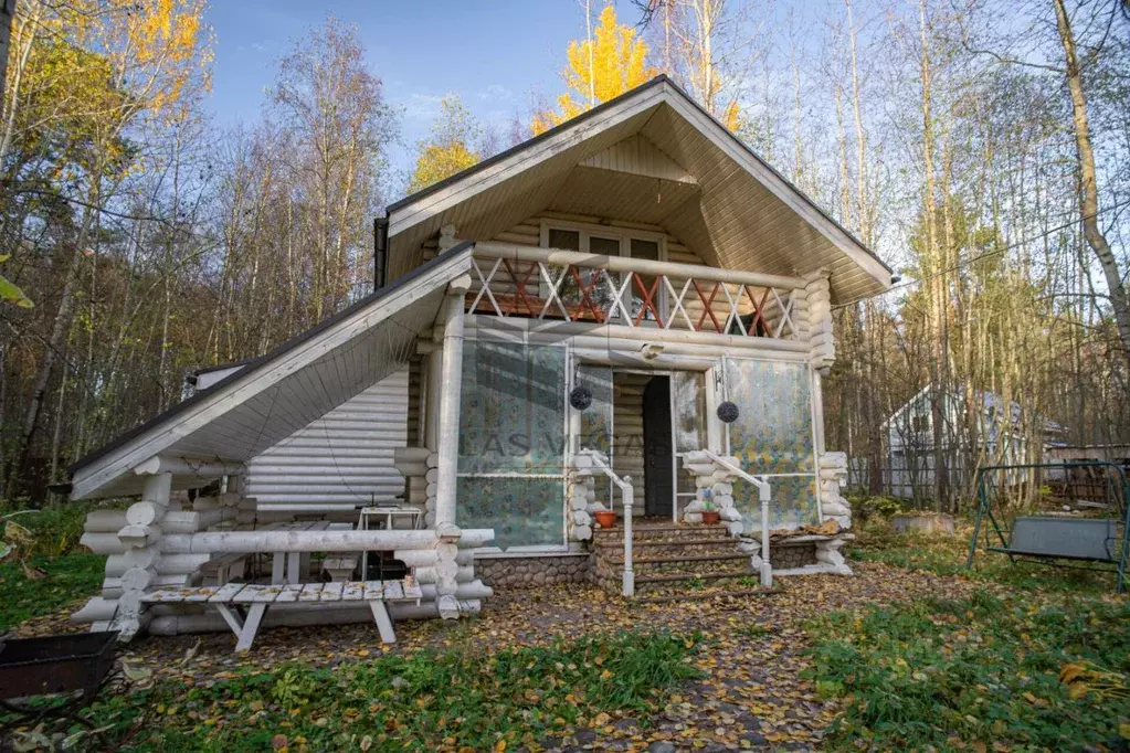
M 28 618 L 50 614 L 102 584 L 106 558 L 98 554 L 66 554 L 32 558 L 29 567 L 46 571 L 38 580 L 24 575 L 19 562 L 0 563 L 0 633 Z

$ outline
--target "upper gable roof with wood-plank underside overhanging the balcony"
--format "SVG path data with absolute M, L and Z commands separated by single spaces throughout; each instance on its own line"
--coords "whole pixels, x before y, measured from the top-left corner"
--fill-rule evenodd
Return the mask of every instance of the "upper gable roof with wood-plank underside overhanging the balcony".
M 666 76 L 392 204 L 390 279 L 445 225 L 486 240 L 544 212 L 655 225 L 712 266 L 827 268 L 836 303 L 890 287 L 890 268 Z

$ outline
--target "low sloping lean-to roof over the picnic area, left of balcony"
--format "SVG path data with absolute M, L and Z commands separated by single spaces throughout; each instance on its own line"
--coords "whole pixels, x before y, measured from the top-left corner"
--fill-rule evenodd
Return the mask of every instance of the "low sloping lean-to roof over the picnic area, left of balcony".
M 472 251 L 459 244 L 80 458 L 71 499 L 140 493 L 155 457 L 174 489 L 203 485 L 402 368 Z

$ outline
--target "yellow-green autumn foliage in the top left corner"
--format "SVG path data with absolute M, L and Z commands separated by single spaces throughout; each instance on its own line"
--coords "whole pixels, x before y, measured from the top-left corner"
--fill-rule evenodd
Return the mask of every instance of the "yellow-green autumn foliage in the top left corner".
M 128 169 L 123 134 L 138 117 L 183 116 L 208 86 L 206 0 L 27 0 L 12 26 L 16 85 L 5 90 L 12 141 L 51 141 L 61 164 Z M 16 68 L 18 65 L 18 69 Z M 99 166 L 96 166 L 101 165 Z M 64 180 L 67 176 L 56 175 Z

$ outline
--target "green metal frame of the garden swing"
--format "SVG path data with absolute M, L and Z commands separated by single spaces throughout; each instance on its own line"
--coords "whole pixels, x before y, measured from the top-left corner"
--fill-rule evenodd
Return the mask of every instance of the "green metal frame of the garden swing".
M 1003 519 L 1003 510 L 998 510 L 998 515 L 993 514 L 992 502 L 990 500 L 988 484 L 985 483 L 989 472 L 1009 472 L 1009 471 L 1027 471 L 1027 470 L 1048 470 L 1048 469 L 1062 469 L 1064 472 L 1069 469 L 1086 467 L 1086 469 L 1110 469 L 1114 471 L 1115 479 L 1112 479 L 1110 474 L 1106 474 L 1107 484 L 1111 485 L 1112 482 L 1121 482 L 1121 493 L 1114 493 L 1112 499 L 1111 509 L 1107 511 L 1105 520 L 1109 525 L 1113 526 L 1115 534 L 1115 540 L 1120 540 L 1120 546 L 1118 549 L 1116 555 L 1110 555 L 1109 558 L 1093 558 L 1093 557 L 1077 557 L 1069 553 L 1064 553 L 1061 557 L 1054 554 L 1038 554 L 1033 552 L 1025 552 L 1023 550 L 1012 549 L 1012 533 L 1016 518 L 1009 526 L 1002 526 L 1001 520 Z M 976 552 L 977 540 L 981 535 L 981 524 L 988 518 L 988 526 L 985 528 L 985 551 L 996 552 L 1001 554 L 1007 554 L 1008 559 L 1014 563 L 1031 563 L 1031 564 L 1046 564 L 1051 567 L 1066 568 L 1066 569 L 1083 569 L 1089 570 L 1092 572 L 1115 572 L 1115 590 L 1118 593 L 1124 593 L 1127 590 L 1127 561 L 1130 558 L 1130 483 L 1127 482 L 1125 469 L 1118 463 L 1111 463 L 1109 461 L 1076 461 L 1076 462 L 1063 462 L 1063 463 L 1026 463 L 1017 465 L 985 465 L 977 469 L 977 516 L 976 522 L 973 525 L 973 536 L 970 539 L 970 554 L 965 559 L 965 569 L 968 570 L 973 567 L 973 555 Z M 1062 519 L 1049 517 L 1050 520 Z M 1095 518 L 1097 519 L 1097 518 Z M 989 527 L 991 526 L 991 527 Z M 1118 533 L 1118 526 L 1122 526 L 1121 534 Z M 992 534 L 997 535 L 1000 540 L 1000 546 L 991 546 L 990 539 Z M 1006 534 L 1008 534 L 1006 536 Z M 1112 540 L 1107 540 L 1110 542 Z M 1107 552 L 1110 548 L 1107 546 Z M 1094 567 L 1094 568 L 1080 568 L 1077 564 L 1069 564 L 1061 562 L 1059 560 L 1084 560 L 1088 562 L 1099 562 L 1103 564 L 1112 564 L 1115 567 Z

